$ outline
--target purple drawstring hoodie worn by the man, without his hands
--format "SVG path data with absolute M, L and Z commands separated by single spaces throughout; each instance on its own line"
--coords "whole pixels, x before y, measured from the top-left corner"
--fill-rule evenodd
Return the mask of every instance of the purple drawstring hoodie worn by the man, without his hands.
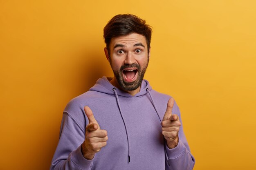
M 154 91 L 146 80 L 132 96 L 112 86 L 106 77 L 98 79 L 63 111 L 50 170 L 192 170 L 195 159 L 182 125 L 177 147 L 169 149 L 162 135 L 160 123 L 170 97 Z M 81 152 L 88 124 L 84 106 L 91 108 L 101 129 L 108 132 L 107 145 L 92 160 Z M 173 114 L 180 117 L 176 102 Z

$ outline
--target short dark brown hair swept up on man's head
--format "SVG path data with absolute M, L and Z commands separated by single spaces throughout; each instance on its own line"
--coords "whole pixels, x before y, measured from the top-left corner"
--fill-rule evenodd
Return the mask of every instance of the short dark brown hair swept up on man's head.
M 146 38 L 148 50 L 151 41 L 151 26 L 146 24 L 146 20 L 142 20 L 136 15 L 119 14 L 115 15 L 103 29 L 103 38 L 109 51 L 109 45 L 112 38 L 128 35 L 130 33 L 138 33 Z

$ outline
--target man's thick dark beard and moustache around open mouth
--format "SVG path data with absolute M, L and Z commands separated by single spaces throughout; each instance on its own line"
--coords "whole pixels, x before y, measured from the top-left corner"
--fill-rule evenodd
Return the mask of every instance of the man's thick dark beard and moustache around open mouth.
M 110 65 L 111 65 L 111 68 L 113 70 L 111 60 L 110 60 Z M 114 73 L 114 75 L 117 79 L 117 82 L 118 82 L 119 86 L 122 88 L 122 90 L 124 90 L 124 91 L 134 91 L 137 88 L 139 88 L 139 86 L 141 86 L 141 83 L 143 81 L 144 74 L 146 72 L 147 67 L 148 67 L 148 63 L 146 65 L 146 67 L 142 68 L 142 70 L 141 70 L 141 67 L 139 66 L 139 64 L 133 63 L 133 64 L 130 64 L 130 65 L 123 65 L 123 66 L 121 66 L 119 71 L 113 70 L 113 73 Z M 137 68 L 138 78 L 134 82 L 125 82 L 124 79 L 123 79 L 123 70 L 124 70 L 124 68 Z

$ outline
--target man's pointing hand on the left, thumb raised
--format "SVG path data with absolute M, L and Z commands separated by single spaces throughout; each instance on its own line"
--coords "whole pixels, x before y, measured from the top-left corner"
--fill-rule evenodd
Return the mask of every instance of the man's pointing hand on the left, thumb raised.
M 107 131 L 99 127 L 92 110 L 85 106 L 84 111 L 88 117 L 89 124 L 85 128 L 85 141 L 82 144 L 82 153 L 85 159 L 91 160 L 96 152 L 99 152 L 102 147 L 106 146 L 108 136 Z

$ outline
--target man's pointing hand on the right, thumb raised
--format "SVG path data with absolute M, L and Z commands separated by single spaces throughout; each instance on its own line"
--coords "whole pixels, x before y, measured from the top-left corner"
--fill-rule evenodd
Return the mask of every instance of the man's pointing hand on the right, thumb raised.
M 179 143 L 178 132 L 180 130 L 180 119 L 178 115 L 172 114 L 174 99 L 168 101 L 166 112 L 161 123 L 162 134 L 167 141 L 169 149 L 175 148 Z

